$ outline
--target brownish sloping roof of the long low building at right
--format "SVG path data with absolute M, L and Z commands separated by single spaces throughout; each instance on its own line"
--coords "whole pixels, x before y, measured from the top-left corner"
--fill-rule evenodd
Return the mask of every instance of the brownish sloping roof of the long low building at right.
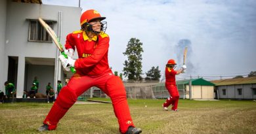
M 256 84 L 256 76 L 245 78 L 229 78 L 224 80 L 212 80 L 215 86 L 236 85 L 236 84 Z

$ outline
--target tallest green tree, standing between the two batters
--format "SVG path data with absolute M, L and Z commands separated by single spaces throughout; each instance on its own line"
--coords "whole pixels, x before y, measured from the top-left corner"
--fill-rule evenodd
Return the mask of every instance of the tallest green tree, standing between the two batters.
M 128 76 L 128 80 L 142 80 L 142 42 L 139 39 L 131 38 L 127 44 L 124 56 L 127 56 L 125 60 L 125 67 L 123 67 L 123 75 Z

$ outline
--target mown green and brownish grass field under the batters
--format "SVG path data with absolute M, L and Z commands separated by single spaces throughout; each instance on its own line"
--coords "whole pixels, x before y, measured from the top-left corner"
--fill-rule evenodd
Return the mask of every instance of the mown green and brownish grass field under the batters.
M 102 101 L 110 99 L 94 98 Z M 163 111 L 163 99 L 128 99 L 142 133 L 256 133 L 255 101 L 179 101 L 179 112 Z M 39 133 L 53 103 L 0 105 L 0 133 Z M 146 107 L 145 107 L 146 106 Z M 54 131 L 43 133 L 119 133 L 112 104 L 75 104 Z

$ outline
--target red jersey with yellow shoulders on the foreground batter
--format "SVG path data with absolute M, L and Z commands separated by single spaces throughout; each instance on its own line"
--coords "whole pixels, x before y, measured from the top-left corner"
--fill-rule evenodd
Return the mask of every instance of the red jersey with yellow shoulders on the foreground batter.
M 75 69 L 80 75 L 95 76 L 110 71 L 108 65 L 108 47 L 110 38 L 106 33 L 89 39 L 85 31 L 74 31 L 66 37 L 65 48 L 77 49 L 78 59 Z

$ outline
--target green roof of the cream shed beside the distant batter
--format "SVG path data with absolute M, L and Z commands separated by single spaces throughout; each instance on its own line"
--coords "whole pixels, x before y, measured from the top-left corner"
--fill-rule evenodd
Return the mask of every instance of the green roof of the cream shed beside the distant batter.
M 185 84 L 188 85 L 190 80 L 177 80 L 176 84 Z M 200 85 L 200 86 L 215 86 L 212 82 L 209 82 L 207 80 L 204 80 L 203 78 L 196 78 L 196 79 L 191 79 L 192 85 Z

